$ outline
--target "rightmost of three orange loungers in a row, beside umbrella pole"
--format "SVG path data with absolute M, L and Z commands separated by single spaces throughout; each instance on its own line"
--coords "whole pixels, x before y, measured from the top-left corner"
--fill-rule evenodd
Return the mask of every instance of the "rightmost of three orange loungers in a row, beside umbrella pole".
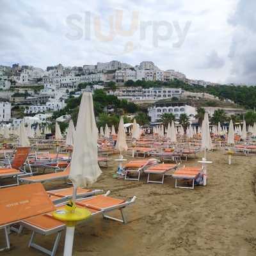
M 175 179 L 175 188 L 189 188 L 194 189 L 195 179 L 201 173 L 202 168 L 200 167 L 184 167 L 179 170 L 176 170 L 172 177 Z M 192 186 L 179 186 L 177 180 L 192 180 Z

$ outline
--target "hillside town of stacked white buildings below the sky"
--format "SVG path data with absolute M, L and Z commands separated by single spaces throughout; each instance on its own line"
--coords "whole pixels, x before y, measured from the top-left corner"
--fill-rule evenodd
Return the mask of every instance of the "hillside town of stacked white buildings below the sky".
M 186 100 L 167 105 L 156 104 L 159 100 L 219 100 L 209 93 L 188 92 L 164 85 L 143 88 L 135 84 L 136 81 L 164 83 L 173 80 L 190 86 L 218 86 L 216 83 L 188 79 L 175 70 L 161 70 L 152 61 L 142 61 L 134 67 L 116 60 L 83 67 L 63 67 L 59 64 L 46 70 L 19 63 L 12 67 L 0 65 L 0 122 L 19 125 L 23 118 L 30 125 L 46 122 L 54 111 L 65 108 L 70 97 L 79 97 L 84 91 L 105 90 L 118 99 L 144 104 L 152 123 L 157 122 L 163 113 L 174 113 L 177 119 L 180 114 L 186 113 L 191 123 L 196 122 L 196 108 L 189 106 Z M 108 86 L 111 83 L 114 88 Z M 79 84 L 87 86 L 79 89 Z M 19 111 L 15 111 L 17 109 Z M 238 112 L 243 113 L 243 109 Z M 231 109 L 228 114 L 232 115 L 234 111 Z

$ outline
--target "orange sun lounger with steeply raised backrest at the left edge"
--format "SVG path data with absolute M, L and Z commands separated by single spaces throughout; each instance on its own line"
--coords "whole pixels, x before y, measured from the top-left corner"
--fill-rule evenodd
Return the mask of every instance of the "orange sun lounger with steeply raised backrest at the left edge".
M 15 155 L 13 157 L 12 163 L 8 164 L 9 167 L 0 168 L 0 179 L 15 177 L 15 183 L 8 185 L 0 185 L 0 188 L 10 187 L 19 185 L 19 176 L 20 175 L 31 175 L 31 172 L 26 173 L 26 170 L 22 170 L 28 154 L 30 152 L 30 147 L 17 147 Z M 30 166 L 29 166 L 30 168 Z

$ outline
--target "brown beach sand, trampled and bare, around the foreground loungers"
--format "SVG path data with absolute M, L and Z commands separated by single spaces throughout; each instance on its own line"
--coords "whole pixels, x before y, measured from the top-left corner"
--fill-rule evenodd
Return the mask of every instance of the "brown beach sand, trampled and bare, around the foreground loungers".
M 115 158 L 115 156 L 111 156 Z M 183 162 L 198 165 L 197 159 Z M 224 152 L 210 152 L 207 186 L 175 189 L 174 180 L 164 184 L 113 179 L 117 164 L 102 168 L 95 189 L 111 190 L 112 196 L 131 198 L 136 203 L 125 209 L 129 223 L 123 225 L 96 216 L 78 225 L 73 255 L 256 255 L 256 156 L 233 157 L 228 165 Z M 65 188 L 63 182 L 45 184 L 46 189 Z M 116 212 L 118 214 L 118 212 Z M 115 216 L 115 214 L 114 214 Z M 117 216 L 117 215 L 116 215 Z M 28 248 L 31 232 L 11 234 L 12 249 L 1 255 L 44 255 Z M 51 248 L 54 236 L 36 236 Z M 3 230 L 0 230 L 3 244 Z M 64 236 L 56 255 L 63 255 Z

